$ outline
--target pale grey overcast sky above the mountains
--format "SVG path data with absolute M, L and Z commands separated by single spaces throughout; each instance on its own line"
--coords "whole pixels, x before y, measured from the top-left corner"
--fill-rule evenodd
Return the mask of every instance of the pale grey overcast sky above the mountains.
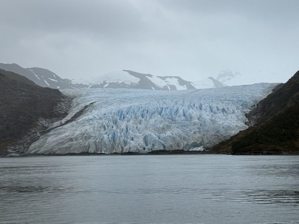
M 1 0 L 0 62 L 78 79 L 117 70 L 248 84 L 299 70 L 299 1 Z

